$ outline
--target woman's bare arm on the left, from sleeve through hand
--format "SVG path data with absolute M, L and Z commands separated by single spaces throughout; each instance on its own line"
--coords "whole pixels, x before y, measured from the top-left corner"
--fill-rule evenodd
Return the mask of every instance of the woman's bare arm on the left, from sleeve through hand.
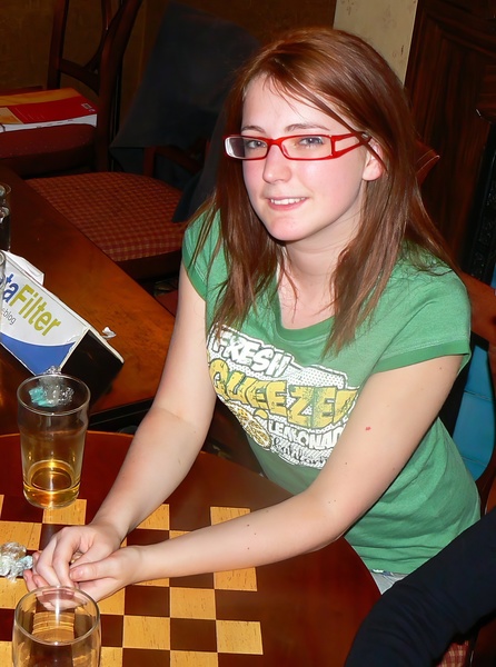
M 139 426 L 112 489 L 89 526 L 60 530 L 34 560 L 28 586 L 69 585 L 69 564 L 99 560 L 180 484 L 210 426 L 205 302 L 181 269 L 176 325 L 153 404 Z M 137 378 L 139 381 L 139 378 Z

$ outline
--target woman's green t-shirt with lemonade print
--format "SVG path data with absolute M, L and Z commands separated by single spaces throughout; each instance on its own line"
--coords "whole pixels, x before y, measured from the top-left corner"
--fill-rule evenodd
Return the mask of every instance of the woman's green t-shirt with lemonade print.
M 212 331 L 224 252 L 210 267 L 215 223 L 196 261 L 200 221 L 183 259 L 206 301 L 210 376 L 237 416 L 266 475 L 294 494 L 319 474 L 370 375 L 445 355 L 469 358 L 470 312 L 463 282 L 446 267 L 419 271 L 398 262 L 371 317 L 339 352 L 325 354 L 334 318 L 286 329 L 268 290 L 240 329 Z M 439 419 L 381 498 L 346 538 L 370 569 L 408 574 L 479 518 L 478 495 Z

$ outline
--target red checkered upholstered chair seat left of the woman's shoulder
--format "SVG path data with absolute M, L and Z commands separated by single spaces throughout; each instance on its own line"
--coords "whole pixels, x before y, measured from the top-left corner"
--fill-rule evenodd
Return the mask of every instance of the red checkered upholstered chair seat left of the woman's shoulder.
M 171 222 L 181 191 L 122 172 L 31 179 L 42 195 L 113 261 L 179 250 L 186 225 Z

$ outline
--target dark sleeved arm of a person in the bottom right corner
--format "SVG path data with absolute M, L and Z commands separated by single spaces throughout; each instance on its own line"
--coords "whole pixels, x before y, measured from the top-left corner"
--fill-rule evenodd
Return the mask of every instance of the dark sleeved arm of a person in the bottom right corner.
M 376 603 L 346 667 L 430 667 L 496 609 L 496 509 Z

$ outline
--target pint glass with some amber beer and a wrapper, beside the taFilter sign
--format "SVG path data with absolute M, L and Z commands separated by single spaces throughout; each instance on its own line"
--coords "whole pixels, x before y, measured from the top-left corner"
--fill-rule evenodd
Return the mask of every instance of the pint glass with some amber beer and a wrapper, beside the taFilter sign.
M 22 482 L 31 505 L 70 505 L 79 494 L 90 390 L 81 380 L 44 374 L 18 388 Z

